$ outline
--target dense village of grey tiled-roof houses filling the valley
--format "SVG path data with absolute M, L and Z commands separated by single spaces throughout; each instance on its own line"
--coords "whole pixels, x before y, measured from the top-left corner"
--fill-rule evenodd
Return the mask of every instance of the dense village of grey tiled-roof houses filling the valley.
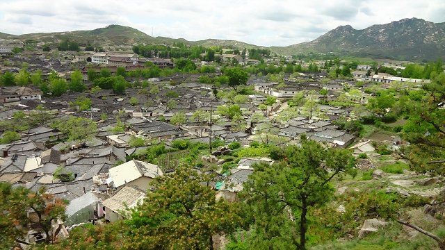
M 396 150 L 405 143 L 396 133 L 375 136 L 345 123 L 371 115 L 366 107 L 378 90 L 394 85 L 416 89 L 430 82 L 373 74 L 376 69 L 371 65 L 357 65 L 347 76 L 330 77 L 329 70 L 323 69 L 328 60 L 307 63 L 270 56 L 260 62 L 248 53 L 244 58 L 221 53 L 220 63 L 191 60 L 195 72 L 146 77 L 134 72 L 147 67 L 172 70 L 177 62 L 128 51 L 12 53 L 17 46 L 0 47 L 0 74 L 10 72 L 17 77 L 25 69 L 29 74 L 40 72 L 40 81 L 56 78 L 70 85 L 76 71 L 86 86 L 84 91 L 67 90 L 57 97 L 31 82 L 4 85 L 0 90 L 3 138 L 11 129 L 19 135 L 10 142 L 2 140 L 6 143 L 0 145 L 0 181 L 35 191 L 44 186 L 49 194 L 69 201 L 67 218 L 53 226 L 64 237 L 79 224 L 122 219 L 122 211 L 145 197 L 154 178 L 172 174 L 185 161 L 197 171 L 211 167 L 217 173 L 212 183 L 216 197 L 234 202 L 253 172 L 251 166 L 274 162 L 255 153 L 235 153 L 234 157 L 236 149 L 298 145 L 304 136 L 325 147 L 353 149 L 355 156 L 374 153 L 376 145 Z M 207 81 L 225 76 L 224 65 L 287 67 L 292 63 L 304 68 L 316 65 L 320 70 L 250 74 L 235 90 L 227 81 Z M 201 73 L 206 67 L 210 72 Z M 92 74 L 95 79 L 124 75 L 124 91 L 99 88 Z M 382 115 L 389 113 L 387 107 L 381 109 Z M 64 128 L 76 121 L 79 124 Z M 191 153 L 187 148 L 191 144 L 199 144 L 199 151 Z M 147 152 L 154 147 L 161 147 L 162 153 L 147 160 Z M 26 242 L 43 238 L 31 230 Z

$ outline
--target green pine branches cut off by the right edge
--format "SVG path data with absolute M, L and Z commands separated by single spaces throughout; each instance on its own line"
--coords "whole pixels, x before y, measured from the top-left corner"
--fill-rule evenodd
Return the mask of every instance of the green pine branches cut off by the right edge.
M 445 176 L 445 73 L 433 76 L 422 86 L 423 97 L 410 96 L 403 138 L 411 143 L 405 156 L 420 173 Z

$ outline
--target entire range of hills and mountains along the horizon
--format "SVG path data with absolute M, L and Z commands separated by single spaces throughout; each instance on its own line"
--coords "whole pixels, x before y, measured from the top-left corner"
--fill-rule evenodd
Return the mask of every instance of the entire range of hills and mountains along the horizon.
M 167 44 L 182 42 L 187 45 L 225 46 L 264 49 L 266 47 L 247 44 L 234 40 L 207 39 L 188 41 L 183 38 L 153 38 L 136 28 L 109 25 L 92 31 L 67 31 L 54 33 L 33 33 L 9 35 L 0 33 L 2 39 L 37 40 L 58 43 L 74 40 L 81 46 L 91 44 L 106 49 L 131 50 L 133 44 Z M 370 58 L 389 58 L 396 60 L 445 60 L 445 23 L 432 23 L 423 19 L 401 19 L 389 24 L 373 25 L 363 30 L 356 30 L 350 25 L 339 26 L 321 35 L 312 42 L 293 44 L 287 47 L 270 47 L 273 53 L 296 55 L 298 53 L 330 53 L 340 56 L 360 56 Z

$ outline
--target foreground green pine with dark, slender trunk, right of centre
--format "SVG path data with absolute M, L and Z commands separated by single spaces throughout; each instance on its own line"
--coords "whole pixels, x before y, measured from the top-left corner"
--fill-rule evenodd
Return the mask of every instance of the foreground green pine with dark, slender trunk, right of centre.
M 270 247 L 276 238 L 306 249 L 307 217 L 334 196 L 332 178 L 353 174 L 354 158 L 346 149 L 325 149 L 313 140 L 301 139 L 301 147 L 290 146 L 286 158 L 272 166 L 254 166 L 241 197 L 252 211 L 252 224 Z M 294 221 L 295 218 L 295 221 Z

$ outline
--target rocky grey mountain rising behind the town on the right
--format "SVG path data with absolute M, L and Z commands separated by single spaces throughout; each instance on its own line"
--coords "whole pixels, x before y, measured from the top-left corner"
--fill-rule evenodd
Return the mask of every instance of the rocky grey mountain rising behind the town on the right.
M 445 23 L 411 18 L 356 30 L 339 26 L 312 42 L 274 47 L 282 53 L 339 53 L 398 60 L 445 59 Z

